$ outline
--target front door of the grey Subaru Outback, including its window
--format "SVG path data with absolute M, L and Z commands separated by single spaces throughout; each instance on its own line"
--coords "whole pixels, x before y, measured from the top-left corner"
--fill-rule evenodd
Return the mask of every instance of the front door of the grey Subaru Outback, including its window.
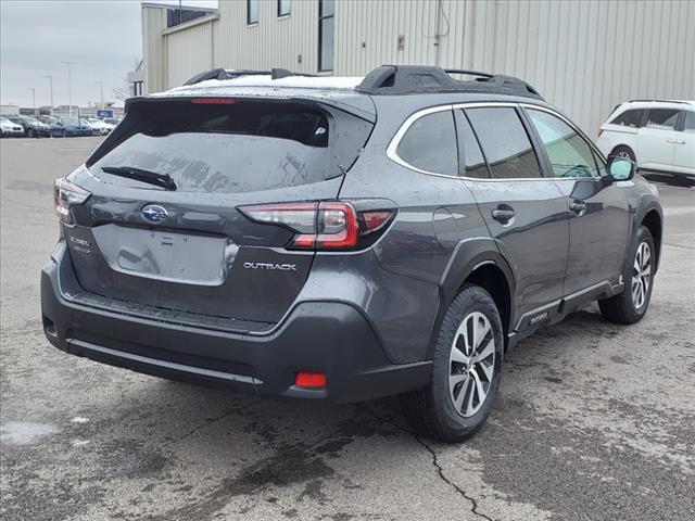
M 603 160 L 569 122 L 543 110 L 527 109 L 526 113 L 566 198 L 570 240 L 565 295 L 604 281 L 617 283 L 630 232 L 622 183 L 604 182 Z

